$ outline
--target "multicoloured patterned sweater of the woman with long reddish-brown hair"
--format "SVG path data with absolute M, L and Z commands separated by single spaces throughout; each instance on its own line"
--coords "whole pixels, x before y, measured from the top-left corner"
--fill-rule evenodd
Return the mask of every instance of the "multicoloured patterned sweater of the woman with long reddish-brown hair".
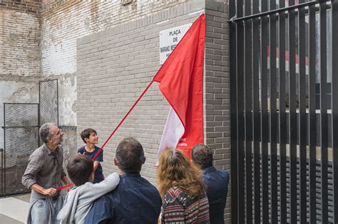
M 210 223 L 206 194 L 190 197 L 180 188 L 171 187 L 164 196 L 161 223 Z

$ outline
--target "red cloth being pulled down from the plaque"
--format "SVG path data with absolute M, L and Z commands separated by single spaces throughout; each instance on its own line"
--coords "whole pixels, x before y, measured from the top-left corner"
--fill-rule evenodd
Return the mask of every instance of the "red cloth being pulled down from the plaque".
M 202 14 L 183 36 L 158 73 L 160 91 L 180 117 L 185 132 L 178 142 L 190 158 L 195 144 L 203 143 L 203 61 L 205 15 Z

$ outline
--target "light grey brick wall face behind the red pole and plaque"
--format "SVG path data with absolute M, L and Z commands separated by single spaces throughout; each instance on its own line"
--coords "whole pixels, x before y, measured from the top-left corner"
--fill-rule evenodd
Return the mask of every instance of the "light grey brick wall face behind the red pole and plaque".
M 78 41 L 78 130 L 97 129 L 101 142 L 108 137 L 160 68 L 159 32 L 195 21 L 200 13 L 188 13 L 202 9 L 192 4 L 185 8 L 152 14 Z M 153 166 L 169 108 L 154 83 L 107 145 L 106 174 L 116 169 L 113 156 L 118 142 L 133 136 L 147 156 L 142 174 L 155 183 Z

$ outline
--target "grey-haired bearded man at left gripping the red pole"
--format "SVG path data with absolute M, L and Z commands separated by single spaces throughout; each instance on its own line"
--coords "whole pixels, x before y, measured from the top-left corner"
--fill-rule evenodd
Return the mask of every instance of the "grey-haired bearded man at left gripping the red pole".
M 29 156 L 22 183 L 31 189 L 31 208 L 27 223 L 58 223 L 58 211 L 63 206 L 63 197 L 56 189 L 61 181 L 68 184 L 63 171 L 63 133 L 55 124 L 42 124 L 39 130 L 44 143 Z M 70 188 L 66 188 L 66 192 Z

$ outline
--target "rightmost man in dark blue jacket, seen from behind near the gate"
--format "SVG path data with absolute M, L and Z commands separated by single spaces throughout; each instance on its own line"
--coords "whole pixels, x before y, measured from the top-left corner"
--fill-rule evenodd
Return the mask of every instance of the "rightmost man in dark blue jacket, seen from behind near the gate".
M 191 159 L 194 164 L 200 166 L 203 172 L 202 181 L 207 186 L 210 223 L 224 223 L 229 173 L 218 171 L 215 166 L 212 166 L 212 150 L 204 144 L 197 144 L 193 147 Z

